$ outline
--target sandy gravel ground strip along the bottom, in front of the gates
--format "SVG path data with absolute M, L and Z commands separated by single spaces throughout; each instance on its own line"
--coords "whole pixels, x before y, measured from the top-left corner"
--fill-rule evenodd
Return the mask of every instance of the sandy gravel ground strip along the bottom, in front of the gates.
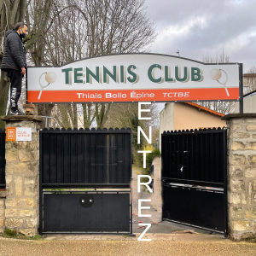
M 1 239 L 0 255 L 255 256 L 256 244 L 226 241 L 20 241 Z

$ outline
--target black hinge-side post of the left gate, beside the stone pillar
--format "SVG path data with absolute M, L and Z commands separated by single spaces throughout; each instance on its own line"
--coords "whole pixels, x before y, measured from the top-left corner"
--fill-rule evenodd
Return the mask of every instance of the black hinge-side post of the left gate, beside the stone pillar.
M 39 234 L 42 235 L 43 233 L 43 189 L 42 189 L 42 182 L 43 182 L 43 161 L 42 161 L 42 154 L 43 154 L 43 142 L 42 142 L 42 133 L 43 131 L 39 131 Z

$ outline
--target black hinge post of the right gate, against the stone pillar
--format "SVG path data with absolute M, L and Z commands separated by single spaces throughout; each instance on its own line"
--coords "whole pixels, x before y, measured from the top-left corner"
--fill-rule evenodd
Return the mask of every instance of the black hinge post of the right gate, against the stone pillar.
M 227 196 L 227 130 L 223 131 L 223 168 L 224 168 L 224 232 L 228 234 L 228 196 Z

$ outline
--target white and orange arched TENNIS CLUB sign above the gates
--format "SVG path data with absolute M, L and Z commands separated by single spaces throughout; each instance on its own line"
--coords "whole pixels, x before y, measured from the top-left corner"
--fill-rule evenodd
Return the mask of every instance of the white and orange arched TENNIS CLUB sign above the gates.
M 27 102 L 185 102 L 239 99 L 239 63 L 171 55 L 106 55 L 28 67 Z

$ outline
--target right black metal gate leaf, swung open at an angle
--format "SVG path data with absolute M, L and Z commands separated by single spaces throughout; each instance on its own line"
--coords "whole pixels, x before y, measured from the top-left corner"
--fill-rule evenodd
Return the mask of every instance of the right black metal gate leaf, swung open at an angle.
M 161 135 L 163 219 L 227 232 L 226 130 Z

